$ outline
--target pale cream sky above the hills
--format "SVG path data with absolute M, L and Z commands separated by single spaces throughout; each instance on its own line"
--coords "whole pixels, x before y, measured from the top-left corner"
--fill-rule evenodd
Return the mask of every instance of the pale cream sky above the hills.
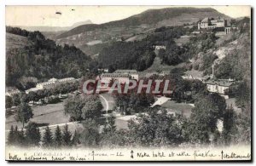
M 147 9 L 163 9 L 178 6 L 6 6 L 7 26 L 73 26 L 74 23 L 91 20 L 102 24 L 125 19 Z M 190 6 L 213 8 L 233 18 L 250 16 L 250 6 Z M 61 14 L 55 14 L 60 12 Z

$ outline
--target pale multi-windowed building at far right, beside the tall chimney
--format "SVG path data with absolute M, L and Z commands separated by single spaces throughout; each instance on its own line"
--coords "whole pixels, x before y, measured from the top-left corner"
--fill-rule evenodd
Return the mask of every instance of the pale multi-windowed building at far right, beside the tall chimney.
M 209 92 L 221 94 L 228 99 L 229 96 L 225 95 L 224 92 L 226 89 L 230 89 L 235 81 L 233 79 L 209 79 L 205 83 Z

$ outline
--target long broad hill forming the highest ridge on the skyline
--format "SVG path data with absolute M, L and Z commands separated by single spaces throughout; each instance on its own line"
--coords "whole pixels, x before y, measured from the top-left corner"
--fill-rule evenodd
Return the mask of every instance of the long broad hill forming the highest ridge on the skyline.
M 106 29 L 111 27 L 131 27 L 141 25 L 154 26 L 180 26 L 184 23 L 196 22 L 205 17 L 222 17 L 230 19 L 229 16 L 219 13 L 216 9 L 204 8 L 166 8 L 166 9 L 148 9 L 147 11 L 132 15 L 124 20 L 115 20 L 108 23 L 96 25 L 88 24 L 73 28 L 59 35 L 57 38 L 69 37 L 85 31 L 94 31 L 96 29 Z

